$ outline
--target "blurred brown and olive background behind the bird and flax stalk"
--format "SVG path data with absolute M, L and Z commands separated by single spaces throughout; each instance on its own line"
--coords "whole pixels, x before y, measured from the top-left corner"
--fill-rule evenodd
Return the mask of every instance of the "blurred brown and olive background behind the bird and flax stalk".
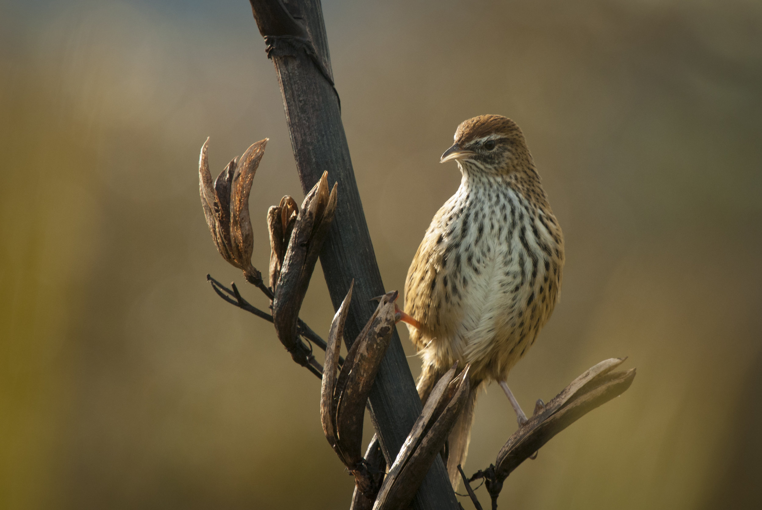
M 438 162 L 458 123 L 511 116 L 568 257 L 514 393 L 531 409 L 602 359 L 638 368 L 501 508 L 760 508 L 762 3 L 323 9 L 386 288 L 458 186 Z M 271 139 L 267 269 L 267 208 L 303 195 L 248 2 L 0 2 L 0 507 L 348 508 L 319 381 L 206 282 L 267 306 L 207 231 L 207 136 L 213 174 Z M 332 314 L 318 269 L 301 316 L 325 335 Z M 468 473 L 516 428 L 494 385 L 475 420 Z

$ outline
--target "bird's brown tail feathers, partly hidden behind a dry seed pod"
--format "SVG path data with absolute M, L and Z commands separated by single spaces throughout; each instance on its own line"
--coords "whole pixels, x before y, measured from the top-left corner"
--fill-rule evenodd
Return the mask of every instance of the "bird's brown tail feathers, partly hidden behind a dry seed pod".
M 426 403 L 431 390 L 437 381 L 447 372 L 447 369 L 437 369 L 433 365 L 424 365 L 421 371 L 421 377 L 418 379 L 418 395 L 421 401 Z M 480 381 L 472 381 L 469 398 L 463 411 L 455 421 L 450 436 L 447 438 L 445 448 L 445 458 L 443 461 L 447 465 L 447 475 L 450 477 L 450 483 L 453 484 L 453 490 L 457 490 L 460 484 L 460 473 L 458 465 L 466 462 L 466 455 L 469 453 L 469 442 L 471 441 L 471 426 L 474 421 L 474 410 L 476 407 L 476 397 L 479 394 Z

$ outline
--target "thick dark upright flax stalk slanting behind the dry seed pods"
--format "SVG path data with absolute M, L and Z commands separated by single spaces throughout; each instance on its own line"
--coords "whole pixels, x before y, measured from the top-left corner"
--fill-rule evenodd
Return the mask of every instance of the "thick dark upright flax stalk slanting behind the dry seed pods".
M 302 190 L 309 192 L 324 171 L 328 171 L 341 190 L 337 221 L 326 237 L 320 262 L 335 310 L 347 295 L 352 279 L 355 281 L 344 335 L 345 339 L 354 339 L 373 314 L 375 306 L 369 303 L 370 298 L 386 289 L 373 253 L 341 124 L 320 2 L 303 0 L 288 2 L 286 6 L 279 0 L 251 0 L 251 7 L 265 40 L 267 56 L 275 65 Z M 370 404 L 384 457 L 391 463 L 421 413 L 421 400 L 396 332 L 392 332 L 389 349 L 370 391 Z M 447 470 L 439 459 L 434 460 L 411 508 L 458 508 Z

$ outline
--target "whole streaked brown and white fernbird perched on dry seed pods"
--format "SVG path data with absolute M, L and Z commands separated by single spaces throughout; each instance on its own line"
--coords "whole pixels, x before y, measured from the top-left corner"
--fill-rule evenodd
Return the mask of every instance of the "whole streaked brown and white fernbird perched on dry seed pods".
M 424 402 L 454 362 L 471 364 L 471 394 L 447 441 L 456 488 L 480 387 L 498 381 L 519 425 L 527 421 L 506 378 L 558 301 L 564 238 L 513 120 L 477 116 L 454 138 L 440 162 L 456 161 L 463 177 L 415 253 L 399 318 L 421 355 Z

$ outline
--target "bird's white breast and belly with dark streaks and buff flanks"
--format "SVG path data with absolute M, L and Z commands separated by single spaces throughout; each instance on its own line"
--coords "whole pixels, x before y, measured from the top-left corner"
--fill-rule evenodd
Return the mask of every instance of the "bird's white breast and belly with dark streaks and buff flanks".
M 424 335 L 411 330 L 424 363 L 468 362 L 481 379 L 507 376 L 549 317 L 558 289 L 548 274 L 557 262 L 539 248 L 535 218 L 513 190 L 500 192 L 474 193 L 462 185 L 421 244 L 431 250 L 417 256 L 430 263 L 427 279 L 411 285 L 408 273 L 406 284 L 408 313 L 429 327 Z M 552 243 L 541 225 L 536 232 L 539 241 Z M 408 296 L 411 288 L 431 295 Z

